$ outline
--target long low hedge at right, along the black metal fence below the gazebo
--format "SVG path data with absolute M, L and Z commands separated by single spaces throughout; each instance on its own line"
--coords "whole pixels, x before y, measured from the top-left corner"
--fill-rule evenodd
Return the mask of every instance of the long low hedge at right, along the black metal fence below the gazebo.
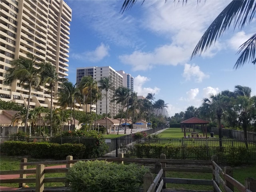
M 211 160 L 212 155 L 218 156 L 220 162 L 230 165 L 248 163 L 250 152 L 245 147 L 218 146 L 174 146 L 173 144 L 139 143 L 130 146 L 125 152 L 126 157 L 159 158 L 164 153 L 166 158 Z

